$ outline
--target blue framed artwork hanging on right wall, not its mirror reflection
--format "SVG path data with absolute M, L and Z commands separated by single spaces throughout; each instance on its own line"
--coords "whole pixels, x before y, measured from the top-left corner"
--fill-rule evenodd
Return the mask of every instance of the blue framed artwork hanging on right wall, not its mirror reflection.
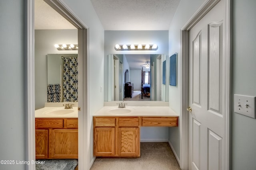
M 170 85 L 176 86 L 177 80 L 177 53 L 170 57 Z

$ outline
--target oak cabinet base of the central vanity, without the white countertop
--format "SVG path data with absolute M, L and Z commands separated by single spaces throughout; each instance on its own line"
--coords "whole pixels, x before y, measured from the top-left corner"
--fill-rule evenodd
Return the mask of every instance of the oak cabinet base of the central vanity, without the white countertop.
M 175 127 L 178 116 L 93 117 L 94 156 L 140 156 L 140 127 Z

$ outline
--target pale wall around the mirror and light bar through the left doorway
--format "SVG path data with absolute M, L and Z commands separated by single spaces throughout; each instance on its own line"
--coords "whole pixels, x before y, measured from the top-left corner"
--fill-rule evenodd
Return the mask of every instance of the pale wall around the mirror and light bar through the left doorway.
M 58 51 L 54 44 L 78 44 L 77 29 L 35 30 L 35 109 L 47 102 L 47 54 L 78 52 Z

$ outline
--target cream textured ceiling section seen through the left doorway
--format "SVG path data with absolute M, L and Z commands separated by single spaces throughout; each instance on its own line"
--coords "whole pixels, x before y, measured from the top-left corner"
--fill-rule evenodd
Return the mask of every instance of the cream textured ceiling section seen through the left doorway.
M 35 0 L 35 29 L 76 29 L 44 0 Z

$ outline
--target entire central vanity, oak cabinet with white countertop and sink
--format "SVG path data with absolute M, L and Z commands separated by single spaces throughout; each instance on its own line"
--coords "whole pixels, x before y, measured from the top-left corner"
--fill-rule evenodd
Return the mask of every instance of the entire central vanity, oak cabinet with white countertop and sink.
M 94 156 L 140 156 L 140 127 L 176 127 L 169 107 L 103 107 L 94 114 Z

